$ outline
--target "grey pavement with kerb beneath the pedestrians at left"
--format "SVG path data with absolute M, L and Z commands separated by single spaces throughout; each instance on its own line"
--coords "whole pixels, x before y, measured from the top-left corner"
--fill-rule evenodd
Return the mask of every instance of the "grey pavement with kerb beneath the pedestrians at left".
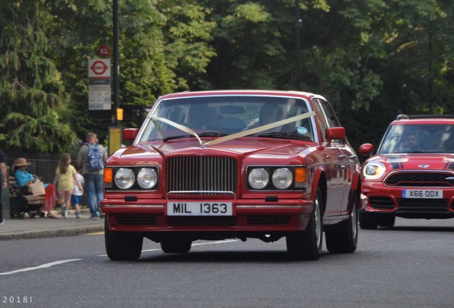
M 69 217 L 61 217 L 61 212 L 53 211 L 57 219 L 47 217 L 24 219 L 9 219 L 0 225 L 0 241 L 24 240 L 43 237 L 66 237 L 104 231 L 104 219 L 91 220 L 88 209 L 81 210 L 81 217 L 76 218 L 74 210 L 69 211 Z

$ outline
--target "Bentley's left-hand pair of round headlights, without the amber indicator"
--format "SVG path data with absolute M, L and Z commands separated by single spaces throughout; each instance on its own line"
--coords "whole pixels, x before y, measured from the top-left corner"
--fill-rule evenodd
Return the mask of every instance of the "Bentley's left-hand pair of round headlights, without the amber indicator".
M 122 190 L 158 188 L 157 168 L 118 168 L 114 170 L 114 183 Z

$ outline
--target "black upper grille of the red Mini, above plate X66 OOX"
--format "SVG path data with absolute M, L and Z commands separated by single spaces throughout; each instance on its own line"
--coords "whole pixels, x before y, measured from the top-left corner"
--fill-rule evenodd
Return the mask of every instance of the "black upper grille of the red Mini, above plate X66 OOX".
M 454 187 L 454 173 L 393 173 L 385 180 L 385 185 L 407 187 Z

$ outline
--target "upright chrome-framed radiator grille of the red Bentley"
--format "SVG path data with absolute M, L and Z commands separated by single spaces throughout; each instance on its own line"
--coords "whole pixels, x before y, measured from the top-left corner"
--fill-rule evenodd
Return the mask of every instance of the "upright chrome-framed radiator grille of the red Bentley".
M 167 192 L 236 192 L 236 160 L 223 157 L 168 158 Z

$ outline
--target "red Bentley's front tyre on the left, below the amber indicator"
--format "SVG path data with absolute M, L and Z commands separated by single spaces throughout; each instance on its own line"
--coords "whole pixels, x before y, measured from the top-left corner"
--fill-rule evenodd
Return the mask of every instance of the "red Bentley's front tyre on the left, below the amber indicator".
M 113 261 L 137 260 L 141 256 L 143 237 L 130 232 L 111 232 L 104 220 L 104 242 L 107 256 Z

